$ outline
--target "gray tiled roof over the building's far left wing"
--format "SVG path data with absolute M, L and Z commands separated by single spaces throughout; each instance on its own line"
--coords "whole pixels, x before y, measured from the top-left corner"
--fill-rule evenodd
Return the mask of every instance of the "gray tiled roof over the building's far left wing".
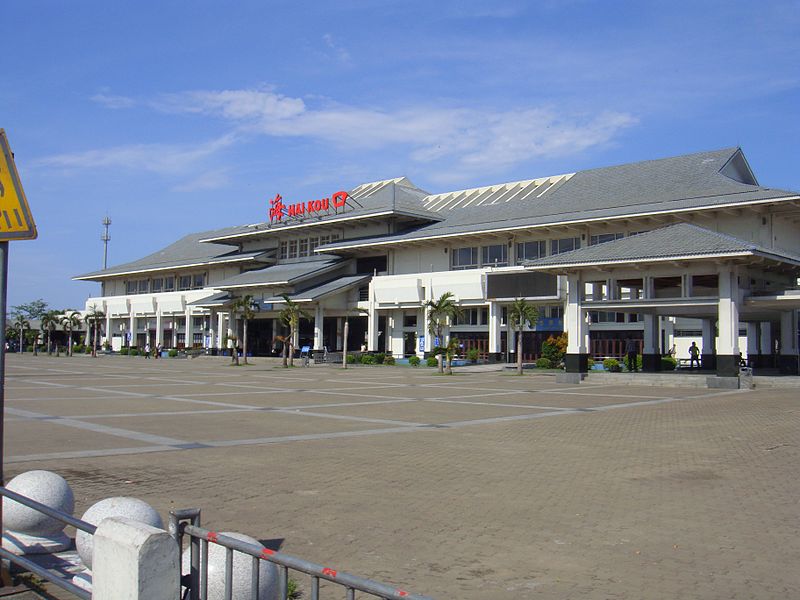
M 210 234 L 215 234 L 217 231 L 221 230 L 201 231 L 199 233 L 189 234 L 166 248 L 162 248 L 138 260 L 115 265 L 108 269 L 101 269 L 84 275 L 78 275 L 74 279 L 99 279 L 126 273 L 157 271 L 161 269 L 179 268 L 187 265 L 205 265 L 234 260 L 252 261 L 256 256 L 264 253 L 264 250 L 259 250 L 257 252 L 238 252 L 236 250 L 231 250 L 230 246 L 223 244 L 200 242 L 201 239 L 208 237 Z

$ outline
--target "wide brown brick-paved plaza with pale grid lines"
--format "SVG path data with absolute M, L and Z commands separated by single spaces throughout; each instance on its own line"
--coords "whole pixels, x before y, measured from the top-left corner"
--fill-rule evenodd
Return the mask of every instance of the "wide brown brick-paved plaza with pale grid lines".
M 797 389 L 254 362 L 9 356 L 6 476 L 440 599 L 800 594 Z

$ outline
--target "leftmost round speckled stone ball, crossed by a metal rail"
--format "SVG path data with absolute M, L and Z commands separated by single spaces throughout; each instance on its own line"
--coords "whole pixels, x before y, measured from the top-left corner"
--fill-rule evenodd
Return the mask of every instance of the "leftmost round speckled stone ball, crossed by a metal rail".
M 72 488 L 61 475 L 50 471 L 28 471 L 8 482 L 7 489 L 72 516 L 75 499 Z M 64 527 L 58 519 L 33 508 L 3 498 L 3 528 L 35 537 L 59 534 Z

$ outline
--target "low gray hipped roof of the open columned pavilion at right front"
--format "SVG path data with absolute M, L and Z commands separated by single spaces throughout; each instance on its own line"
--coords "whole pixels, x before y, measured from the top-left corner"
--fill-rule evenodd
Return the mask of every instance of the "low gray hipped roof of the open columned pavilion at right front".
M 645 262 L 670 258 L 730 254 L 759 254 L 800 263 L 800 257 L 767 250 L 739 238 L 689 223 L 678 223 L 605 244 L 546 256 L 524 264 L 535 269 L 619 262 Z

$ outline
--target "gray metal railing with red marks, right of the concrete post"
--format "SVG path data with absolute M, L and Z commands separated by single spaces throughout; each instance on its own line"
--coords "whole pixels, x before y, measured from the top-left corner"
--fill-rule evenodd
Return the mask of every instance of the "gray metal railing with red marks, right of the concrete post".
M 365 592 L 383 600 L 431 600 L 428 596 L 412 594 L 393 586 L 365 579 L 349 573 L 342 573 L 302 558 L 282 552 L 269 550 L 261 545 L 251 544 L 200 527 L 200 510 L 188 508 L 170 512 L 169 531 L 183 548 L 183 536 L 190 538 L 190 572 L 182 579 L 186 588 L 184 598 L 206 600 L 208 597 L 208 545 L 217 544 L 226 549 L 225 553 L 225 599 L 233 599 L 233 552 L 249 554 L 252 559 L 251 597 L 258 598 L 259 565 L 262 560 L 278 566 L 278 597 L 289 598 L 289 570 L 308 575 L 311 583 L 310 600 L 319 600 L 320 581 L 329 581 L 344 588 L 346 600 L 355 600 L 356 592 Z M 202 556 L 202 560 L 201 560 Z

